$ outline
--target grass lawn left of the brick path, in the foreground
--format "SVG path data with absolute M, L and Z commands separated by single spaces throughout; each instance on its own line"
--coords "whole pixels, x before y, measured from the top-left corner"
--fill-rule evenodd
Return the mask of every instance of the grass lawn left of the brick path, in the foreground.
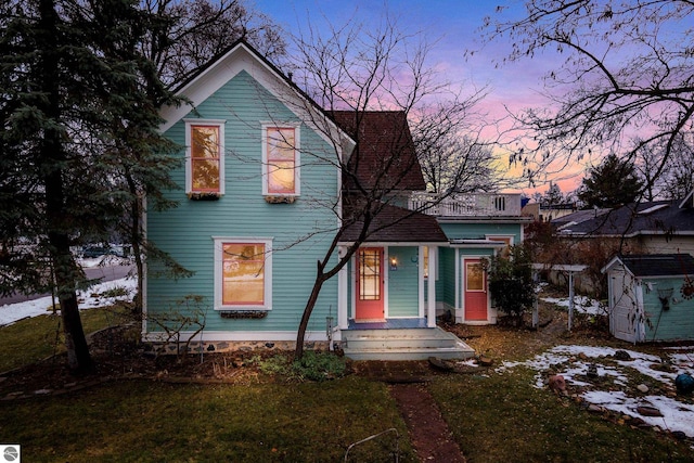
M 339 400 L 337 400 L 339 398 Z M 180 385 L 117 382 L 73 397 L 0 403 L 0 442 L 31 462 L 337 462 L 347 447 L 396 427 L 387 388 L 330 383 Z M 401 461 L 415 461 L 407 438 Z M 351 461 L 393 461 L 391 438 Z

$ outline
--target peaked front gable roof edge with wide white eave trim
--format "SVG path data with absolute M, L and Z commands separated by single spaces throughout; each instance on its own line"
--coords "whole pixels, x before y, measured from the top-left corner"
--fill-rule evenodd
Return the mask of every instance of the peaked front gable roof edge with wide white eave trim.
M 178 87 L 176 94 L 185 97 L 188 103 L 163 107 L 160 116 L 164 124 L 159 130 L 168 130 L 243 70 L 325 141 L 338 145 L 349 155 L 355 141 L 306 92 L 243 39 L 233 43 L 220 56 L 210 60 L 197 74 Z

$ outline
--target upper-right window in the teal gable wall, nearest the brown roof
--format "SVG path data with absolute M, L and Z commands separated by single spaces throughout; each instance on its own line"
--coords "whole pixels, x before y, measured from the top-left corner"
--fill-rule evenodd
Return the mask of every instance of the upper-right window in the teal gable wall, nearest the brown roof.
M 262 193 L 269 196 L 299 194 L 298 125 L 264 125 Z

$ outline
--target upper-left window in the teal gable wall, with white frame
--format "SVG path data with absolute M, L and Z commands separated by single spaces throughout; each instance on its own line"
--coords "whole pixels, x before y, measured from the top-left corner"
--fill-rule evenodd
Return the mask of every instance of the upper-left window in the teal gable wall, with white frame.
M 223 121 L 185 120 L 185 192 L 224 193 Z

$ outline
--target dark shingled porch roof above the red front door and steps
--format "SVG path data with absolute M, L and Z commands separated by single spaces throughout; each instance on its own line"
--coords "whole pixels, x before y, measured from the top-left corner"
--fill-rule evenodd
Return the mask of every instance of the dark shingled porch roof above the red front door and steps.
M 365 243 L 447 243 L 448 237 L 436 218 L 402 207 L 382 204 L 378 214 L 369 227 Z M 350 243 L 359 239 L 363 220 L 347 226 L 340 242 Z

